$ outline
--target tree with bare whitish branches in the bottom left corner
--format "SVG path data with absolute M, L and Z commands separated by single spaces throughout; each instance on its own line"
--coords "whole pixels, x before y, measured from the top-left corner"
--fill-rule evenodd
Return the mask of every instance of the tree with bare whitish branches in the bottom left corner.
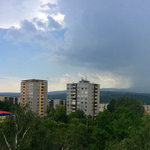
M 50 142 L 44 143 L 50 134 L 47 135 L 48 131 L 37 114 L 21 107 L 16 107 L 14 113 L 14 116 L 8 116 L 0 126 L 1 149 L 6 146 L 9 150 L 43 149 L 50 146 Z

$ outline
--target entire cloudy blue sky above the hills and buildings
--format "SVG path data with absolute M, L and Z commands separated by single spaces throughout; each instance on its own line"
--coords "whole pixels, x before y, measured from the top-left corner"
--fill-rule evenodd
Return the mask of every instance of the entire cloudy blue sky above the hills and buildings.
M 149 0 L 1 0 L 0 92 L 48 91 L 87 78 L 150 93 Z

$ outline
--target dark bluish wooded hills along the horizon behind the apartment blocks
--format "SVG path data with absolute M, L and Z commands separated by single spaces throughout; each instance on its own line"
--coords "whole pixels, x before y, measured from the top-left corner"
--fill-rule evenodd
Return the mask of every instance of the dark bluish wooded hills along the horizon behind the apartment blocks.
M 20 93 L 0 93 L 0 95 L 4 96 L 20 96 Z M 101 103 L 109 103 L 112 99 L 118 99 L 120 97 L 127 97 L 127 98 L 135 98 L 142 101 L 144 104 L 150 105 L 150 94 L 148 93 L 135 93 L 129 92 L 128 89 L 100 89 L 100 102 Z M 66 91 L 52 91 L 48 92 L 48 99 L 62 99 L 66 100 Z

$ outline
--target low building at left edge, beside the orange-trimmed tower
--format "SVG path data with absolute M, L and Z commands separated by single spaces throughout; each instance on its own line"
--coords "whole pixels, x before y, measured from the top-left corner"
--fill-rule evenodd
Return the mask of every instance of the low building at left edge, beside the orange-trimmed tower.
M 0 96 L 0 101 L 8 100 L 10 104 L 20 104 L 20 97 Z

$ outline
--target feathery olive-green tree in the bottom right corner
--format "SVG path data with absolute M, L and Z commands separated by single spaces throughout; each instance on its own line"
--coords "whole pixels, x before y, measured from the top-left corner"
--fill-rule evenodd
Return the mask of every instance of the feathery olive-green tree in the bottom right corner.
M 128 138 L 121 142 L 111 142 L 106 150 L 148 150 L 150 148 L 150 120 L 143 118 L 139 129 L 132 130 Z

